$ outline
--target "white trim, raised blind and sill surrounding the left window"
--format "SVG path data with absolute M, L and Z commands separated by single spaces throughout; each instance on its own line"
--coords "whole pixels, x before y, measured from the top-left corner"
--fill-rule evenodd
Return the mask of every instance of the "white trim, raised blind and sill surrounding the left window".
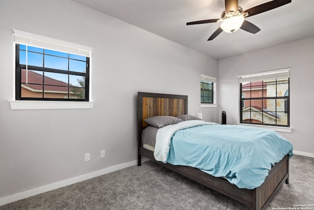
M 89 66 L 89 101 L 26 101 L 26 100 L 8 100 L 12 110 L 23 110 L 23 109 L 92 109 L 94 102 L 92 101 L 92 66 L 91 66 L 91 52 L 92 48 L 78 45 L 71 42 L 66 42 L 42 35 L 29 33 L 22 30 L 13 30 L 14 42 L 16 44 L 27 44 L 34 47 L 40 47 L 55 51 L 61 51 L 65 53 L 71 53 L 81 55 L 90 58 Z M 15 45 L 14 45 L 15 46 Z M 15 47 L 14 47 L 15 49 Z M 15 54 L 14 54 L 15 55 Z M 14 85 L 15 87 L 15 85 Z M 15 93 L 15 91 L 14 91 Z M 15 95 L 12 96 L 15 98 Z

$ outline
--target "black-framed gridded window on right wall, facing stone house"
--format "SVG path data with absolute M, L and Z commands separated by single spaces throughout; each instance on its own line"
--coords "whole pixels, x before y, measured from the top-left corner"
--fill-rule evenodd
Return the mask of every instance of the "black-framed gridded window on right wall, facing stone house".
M 239 76 L 240 122 L 289 126 L 289 69 Z

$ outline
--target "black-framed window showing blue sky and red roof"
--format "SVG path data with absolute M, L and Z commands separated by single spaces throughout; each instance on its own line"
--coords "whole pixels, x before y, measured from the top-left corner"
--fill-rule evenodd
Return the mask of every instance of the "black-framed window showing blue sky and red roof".
M 15 42 L 16 100 L 89 101 L 90 52 L 17 34 Z

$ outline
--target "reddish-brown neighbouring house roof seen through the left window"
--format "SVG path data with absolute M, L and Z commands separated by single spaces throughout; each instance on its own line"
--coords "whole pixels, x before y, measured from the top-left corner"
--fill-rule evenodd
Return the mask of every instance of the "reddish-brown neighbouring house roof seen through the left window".
M 76 87 L 73 85 L 68 85 L 65 82 L 52 79 L 42 74 L 38 74 L 34 71 L 27 71 L 27 84 L 26 84 L 26 69 L 22 69 L 22 86 L 32 91 L 42 91 L 43 90 L 43 79 L 45 81 L 45 91 L 53 92 L 68 92 L 69 87 Z M 34 85 L 38 84 L 38 85 Z

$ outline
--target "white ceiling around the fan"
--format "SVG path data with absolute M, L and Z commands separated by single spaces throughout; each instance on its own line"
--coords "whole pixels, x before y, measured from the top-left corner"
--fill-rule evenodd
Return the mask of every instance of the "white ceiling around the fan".
M 74 0 L 141 29 L 216 59 L 314 36 L 314 0 L 292 0 L 282 7 L 246 18 L 261 29 L 209 36 L 220 23 L 186 22 L 220 18 L 224 0 Z M 270 0 L 238 0 L 244 10 Z

